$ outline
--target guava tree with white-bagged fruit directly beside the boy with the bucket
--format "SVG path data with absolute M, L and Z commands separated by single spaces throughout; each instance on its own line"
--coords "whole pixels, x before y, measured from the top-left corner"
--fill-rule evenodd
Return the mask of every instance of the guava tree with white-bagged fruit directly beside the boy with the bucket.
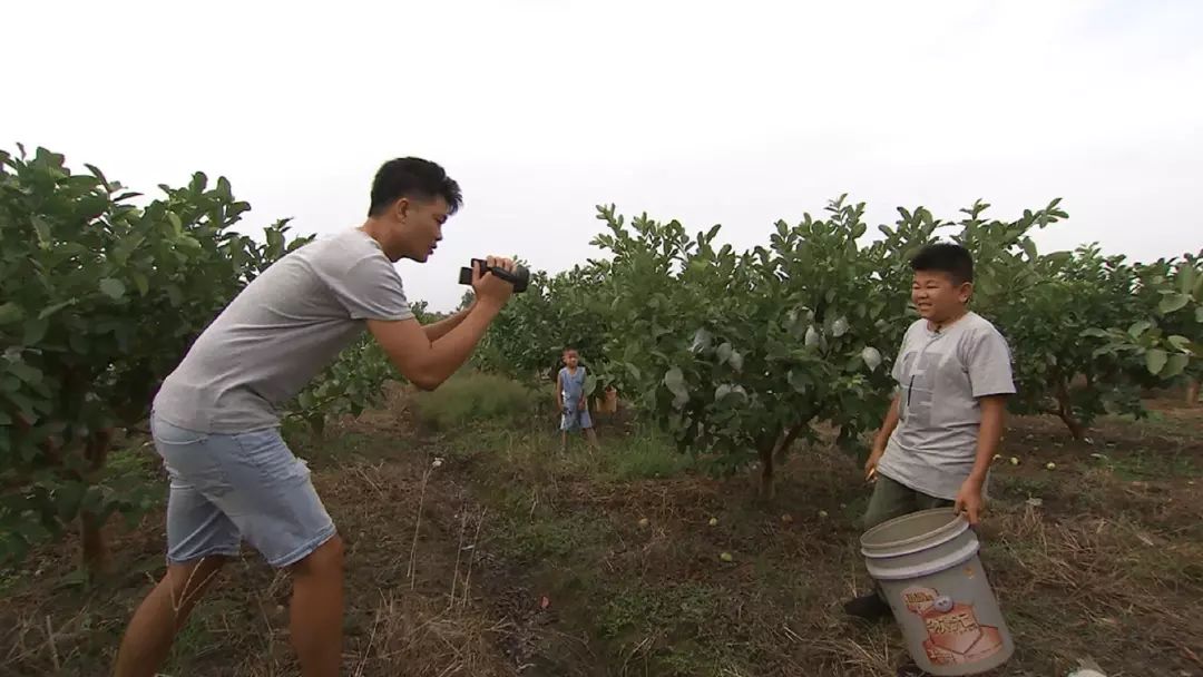
M 630 230 L 602 208 L 612 254 L 614 333 L 608 370 L 675 435 L 683 450 L 731 470 L 774 467 L 813 424 L 842 444 L 881 423 L 890 357 L 912 316 L 909 279 L 895 251 L 926 242 L 935 222 L 907 214 L 864 245 L 864 206 L 836 201 L 826 219 L 778 222 L 769 247 L 736 254 L 719 232 L 688 236 L 678 222 L 641 216 Z

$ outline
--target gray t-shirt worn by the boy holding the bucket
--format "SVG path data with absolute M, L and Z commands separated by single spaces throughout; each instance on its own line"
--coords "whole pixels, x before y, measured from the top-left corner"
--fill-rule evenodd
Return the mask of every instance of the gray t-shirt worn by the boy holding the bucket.
M 899 382 L 899 424 L 877 470 L 912 489 L 954 500 L 977 456 L 977 398 L 1015 392 L 1007 342 L 977 313 L 940 332 L 918 320 L 902 339 L 893 376 Z

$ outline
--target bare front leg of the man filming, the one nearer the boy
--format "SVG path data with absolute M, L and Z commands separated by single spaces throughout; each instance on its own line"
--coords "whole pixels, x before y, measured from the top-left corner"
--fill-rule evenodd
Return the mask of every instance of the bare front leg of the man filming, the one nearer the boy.
M 303 677 L 337 677 L 343 657 L 343 541 L 292 565 L 292 648 Z

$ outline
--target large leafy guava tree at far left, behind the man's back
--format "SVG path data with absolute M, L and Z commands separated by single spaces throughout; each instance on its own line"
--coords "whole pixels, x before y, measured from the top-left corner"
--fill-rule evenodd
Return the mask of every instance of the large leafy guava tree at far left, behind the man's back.
M 101 528 L 149 497 L 106 483 L 114 428 L 142 421 L 162 378 L 286 242 L 232 230 L 249 209 L 195 174 L 144 207 L 63 155 L 0 152 L 0 558 L 79 524 L 90 570 Z

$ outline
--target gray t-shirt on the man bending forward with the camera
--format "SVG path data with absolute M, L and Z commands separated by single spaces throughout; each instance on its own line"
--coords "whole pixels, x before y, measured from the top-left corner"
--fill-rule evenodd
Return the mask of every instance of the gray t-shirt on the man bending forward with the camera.
M 279 424 L 296 396 L 365 329 L 407 320 L 401 277 L 358 228 L 310 242 L 255 278 L 164 381 L 155 414 L 207 433 Z

